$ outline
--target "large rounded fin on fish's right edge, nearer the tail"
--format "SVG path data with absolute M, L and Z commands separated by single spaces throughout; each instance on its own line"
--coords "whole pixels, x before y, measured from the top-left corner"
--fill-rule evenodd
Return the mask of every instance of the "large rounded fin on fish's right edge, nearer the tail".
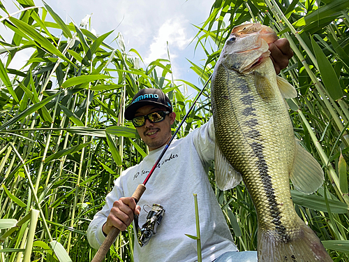
M 290 180 L 298 191 L 312 194 L 321 187 L 324 173 L 318 161 L 302 147 L 299 141 L 296 140 L 295 143 L 295 159 L 290 172 Z

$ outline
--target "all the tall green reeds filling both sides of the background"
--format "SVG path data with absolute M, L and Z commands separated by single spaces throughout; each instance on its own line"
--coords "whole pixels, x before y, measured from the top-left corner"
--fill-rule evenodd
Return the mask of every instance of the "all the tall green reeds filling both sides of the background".
M 87 26 L 66 24 L 45 2 L 17 6 L 0 17 L 13 31 L 10 43 L 0 41 L 0 261 L 90 261 L 96 250 L 87 243 L 89 221 L 121 170 L 147 155 L 124 120 L 125 106 L 141 88 L 163 89 L 179 122 L 193 101 L 173 81 L 170 58 L 140 66 L 142 57 L 126 49 L 121 34 L 114 48 L 105 43 L 111 32 L 97 37 Z M 348 7 L 346 0 L 217 0 L 198 26 L 197 48 L 207 60 L 192 63 L 205 83 L 225 38 L 243 22 L 268 24 L 288 38 L 295 56 L 281 75 L 299 93 L 288 101 L 295 135 L 326 173 L 316 194 L 292 190 L 292 199 L 334 261 L 349 261 Z M 216 47 L 207 49 L 207 41 Z M 10 68 L 24 49 L 32 52 L 27 64 Z M 209 96 L 207 89 L 179 137 L 207 122 Z M 209 177 L 239 249 L 255 250 L 257 217 L 244 185 L 223 192 L 213 169 Z M 133 242 L 130 227 L 105 261 L 133 261 Z

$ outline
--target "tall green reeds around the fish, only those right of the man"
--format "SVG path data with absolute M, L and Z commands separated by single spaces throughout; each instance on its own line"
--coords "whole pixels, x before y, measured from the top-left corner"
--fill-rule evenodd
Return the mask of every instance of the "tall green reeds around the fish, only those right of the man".
M 205 23 L 198 27 L 198 46 L 207 41 L 218 51 L 206 50 L 200 75 L 213 72 L 232 27 L 260 22 L 290 41 L 295 56 L 281 72 L 297 88 L 288 101 L 296 137 L 325 170 L 325 183 L 316 194 L 292 190 L 295 208 L 318 234 L 334 261 L 349 261 L 348 241 L 348 1 L 215 1 Z M 291 184 L 292 187 L 292 184 Z M 244 186 L 216 189 L 239 249 L 257 247 L 257 217 Z

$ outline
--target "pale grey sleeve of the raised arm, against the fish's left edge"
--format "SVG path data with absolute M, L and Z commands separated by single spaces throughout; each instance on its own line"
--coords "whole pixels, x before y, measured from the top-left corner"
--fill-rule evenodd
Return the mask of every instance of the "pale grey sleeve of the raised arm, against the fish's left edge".
M 209 122 L 193 131 L 193 143 L 205 166 L 211 164 L 211 161 L 214 160 L 215 141 L 214 119 L 210 117 Z

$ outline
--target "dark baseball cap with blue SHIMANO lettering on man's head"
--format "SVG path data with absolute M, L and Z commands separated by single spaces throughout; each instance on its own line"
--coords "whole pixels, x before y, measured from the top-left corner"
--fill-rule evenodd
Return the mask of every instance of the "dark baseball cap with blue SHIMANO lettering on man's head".
M 135 112 L 138 108 L 142 108 L 144 105 L 162 105 L 172 112 L 172 104 L 168 96 L 166 96 L 160 89 L 156 88 L 144 88 L 133 96 L 131 105 L 125 110 L 125 118 L 127 120 L 132 120 L 135 117 Z

